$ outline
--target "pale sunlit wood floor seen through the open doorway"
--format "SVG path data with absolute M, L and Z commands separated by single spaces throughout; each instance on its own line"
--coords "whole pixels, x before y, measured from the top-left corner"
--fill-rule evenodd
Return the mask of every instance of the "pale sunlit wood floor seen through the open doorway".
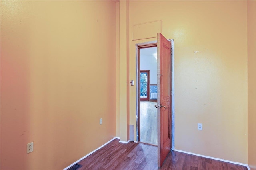
M 140 102 L 140 141 L 157 145 L 157 102 Z

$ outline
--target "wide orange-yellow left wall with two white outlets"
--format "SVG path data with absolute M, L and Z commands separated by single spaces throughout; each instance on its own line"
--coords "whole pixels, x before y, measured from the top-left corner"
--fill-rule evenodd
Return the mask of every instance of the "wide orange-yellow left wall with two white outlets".
M 115 6 L 0 1 L 1 170 L 63 169 L 116 136 Z

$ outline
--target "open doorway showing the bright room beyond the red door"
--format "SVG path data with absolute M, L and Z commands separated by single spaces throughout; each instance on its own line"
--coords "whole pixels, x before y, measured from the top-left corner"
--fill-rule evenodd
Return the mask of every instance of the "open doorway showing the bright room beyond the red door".
M 139 50 L 140 142 L 157 146 L 157 47 Z

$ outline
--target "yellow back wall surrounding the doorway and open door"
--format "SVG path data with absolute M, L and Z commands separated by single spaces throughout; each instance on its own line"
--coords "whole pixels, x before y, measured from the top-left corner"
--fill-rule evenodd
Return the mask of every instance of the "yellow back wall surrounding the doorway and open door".
M 129 5 L 130 80 L 136 81 L 135 44 L 156 40 L 132 41 L 134 24 L 162 20 L 162 34 L 174 39 L 175 149 L 247 164 L 246 1 Z M 130 86 L 133 125 L 135 113 L 136 87 Z

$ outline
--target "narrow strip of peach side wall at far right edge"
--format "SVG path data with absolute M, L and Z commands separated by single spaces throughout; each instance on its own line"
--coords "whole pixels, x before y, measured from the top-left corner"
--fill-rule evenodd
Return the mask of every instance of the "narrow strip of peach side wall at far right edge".
M 256 170 L 256 1 L 247 1 L 248 164 Z

